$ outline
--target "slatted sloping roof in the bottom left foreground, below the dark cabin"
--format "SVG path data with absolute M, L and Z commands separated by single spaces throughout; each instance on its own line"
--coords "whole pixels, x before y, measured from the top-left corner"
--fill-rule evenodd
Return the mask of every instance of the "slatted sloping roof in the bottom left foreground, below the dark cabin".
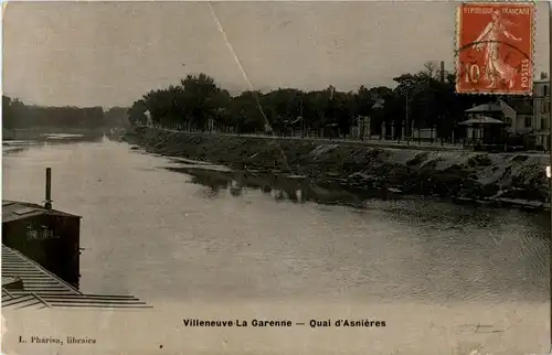
M 2 245 L 2 309 L 150 308 L 132 295 L 84 294 L 21 252 Z

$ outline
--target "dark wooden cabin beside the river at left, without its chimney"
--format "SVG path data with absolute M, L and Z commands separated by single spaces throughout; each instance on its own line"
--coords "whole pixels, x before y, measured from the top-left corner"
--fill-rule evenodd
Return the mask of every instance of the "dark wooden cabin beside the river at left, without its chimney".
M 78 288 L 81 216 L 39 204 L 2 201 L 2 244 Z

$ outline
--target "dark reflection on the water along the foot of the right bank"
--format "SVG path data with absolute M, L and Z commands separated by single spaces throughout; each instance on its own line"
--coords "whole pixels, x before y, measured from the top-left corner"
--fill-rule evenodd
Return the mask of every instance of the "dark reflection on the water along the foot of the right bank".
M 477 205 L 456 205 L 449 202 L 439 203 L 438 198 L 424 196 L 405 196 L 396 191 L 351 191 L 336 184 L 320 184 L 305 176 L 277 176 L 261 172 L 231 171 L 219 166 L 193 164 L 187 166 L 164 168 L 170 171 L 185 173 L 190 182 L 209 187 L 206 197 L 216 197 L 221 190 L 227 191 L 233 197 L 241 197 L 247 190 L 259 191 L 272 196 L 276 202 L 306 203 L 323 205 L 350 206 L 357 209 L 376 208 L 379 201 L 391 204 L 397 218 L 408 214 L 420 223 L 447 223 L 454 225 L 478 224 L 481 228 L 488 226 L 496 217 L 496 208 Z M 396 201 L 396 204 L 393 204 Z M 412 201 L 412 204 L 405 203 Z M 424 207 L 420 208 L 420 204 Z M 508 211 L 508 209 L 501 209 Z M 521 212 L 512 208 L 516 216 L 532 220 L 535 225 L 548 226 L 543 234 L 550 230 L 550 217 L 546 212 Z M 454 220 L 452 220 L 454 219 Z

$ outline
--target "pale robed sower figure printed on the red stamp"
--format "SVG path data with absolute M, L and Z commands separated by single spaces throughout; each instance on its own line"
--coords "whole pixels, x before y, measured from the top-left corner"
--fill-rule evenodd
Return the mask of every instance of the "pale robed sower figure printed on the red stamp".
M 520 42 L 521 39 L 516 37 L 508 32 L 507 25 L 513 24 L 505 20 L 500 15 L 500 11 L 492 12 L 492 20 L 487 24 L 485 30 L 476 40 L 475 49 L 480 52 L 485 51 L 485 79 L 489 80 L 487 88 L 495 88 L 497 82 L 506 82 L 508 88 L 514 85 L 517 69 L 508 65 L 500 58 L 500 35 L 503 34 L 507 39 Z

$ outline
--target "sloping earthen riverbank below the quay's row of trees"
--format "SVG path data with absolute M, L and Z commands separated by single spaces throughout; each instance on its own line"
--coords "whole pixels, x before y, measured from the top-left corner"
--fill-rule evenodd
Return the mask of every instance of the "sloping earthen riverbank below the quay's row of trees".
M 549 206 L 549 158 L 523 153 L 427 151 L 359 142 L 217 136 L 136 128 L 124 140 L 148 152 L 232 169 L 305 175 L 322 184 L 367 191 L 438 195 L 457 201 Z

